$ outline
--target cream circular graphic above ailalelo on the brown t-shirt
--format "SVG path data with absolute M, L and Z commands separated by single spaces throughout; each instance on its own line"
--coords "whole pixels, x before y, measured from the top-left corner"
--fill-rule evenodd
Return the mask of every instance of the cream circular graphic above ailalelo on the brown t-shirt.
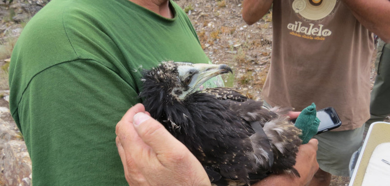
M 308 20 L 320 20 L 334 9 L 336 0 L 294 0 L 292 9 Z

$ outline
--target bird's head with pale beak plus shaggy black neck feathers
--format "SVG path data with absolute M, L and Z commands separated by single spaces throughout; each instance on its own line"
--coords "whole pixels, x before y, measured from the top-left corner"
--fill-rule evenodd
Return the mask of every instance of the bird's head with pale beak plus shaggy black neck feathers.
M 187 108 L 199 86 L 219 74 L 232 72 L 225 64 L 192 64 L 162 62 L 158 67 L 144 71 L 140 97 L 153 118 L 171 130 L 195 127 Z

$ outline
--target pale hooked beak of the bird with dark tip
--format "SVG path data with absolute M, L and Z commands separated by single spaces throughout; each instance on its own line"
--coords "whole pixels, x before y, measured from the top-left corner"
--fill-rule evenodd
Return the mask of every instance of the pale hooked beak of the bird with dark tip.
M 194 64 L 194 67 L 199 70 L 199 75 L 196 78 L 196 84 L 201 85 L 210 78 L 213 78 L 220 74 L 226 74 L 231 72 L 233 74 L 232 68 L 226 64 L 204 64 L 198 63 Z

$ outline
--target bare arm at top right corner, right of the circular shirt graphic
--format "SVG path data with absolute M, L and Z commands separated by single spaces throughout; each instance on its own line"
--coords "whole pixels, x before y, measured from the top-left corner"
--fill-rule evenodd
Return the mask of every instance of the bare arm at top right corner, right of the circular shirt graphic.
M 343 0 L 356 19 L 367 29 L 390 42 L 389 0 Z

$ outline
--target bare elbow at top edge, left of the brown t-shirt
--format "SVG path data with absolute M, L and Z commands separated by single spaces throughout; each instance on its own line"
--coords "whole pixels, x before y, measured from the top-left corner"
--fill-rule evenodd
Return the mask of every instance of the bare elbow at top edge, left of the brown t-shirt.
M 259 21 L 270 10 L 273 0 L 244 0 L 242 18 L 251 25 Z

